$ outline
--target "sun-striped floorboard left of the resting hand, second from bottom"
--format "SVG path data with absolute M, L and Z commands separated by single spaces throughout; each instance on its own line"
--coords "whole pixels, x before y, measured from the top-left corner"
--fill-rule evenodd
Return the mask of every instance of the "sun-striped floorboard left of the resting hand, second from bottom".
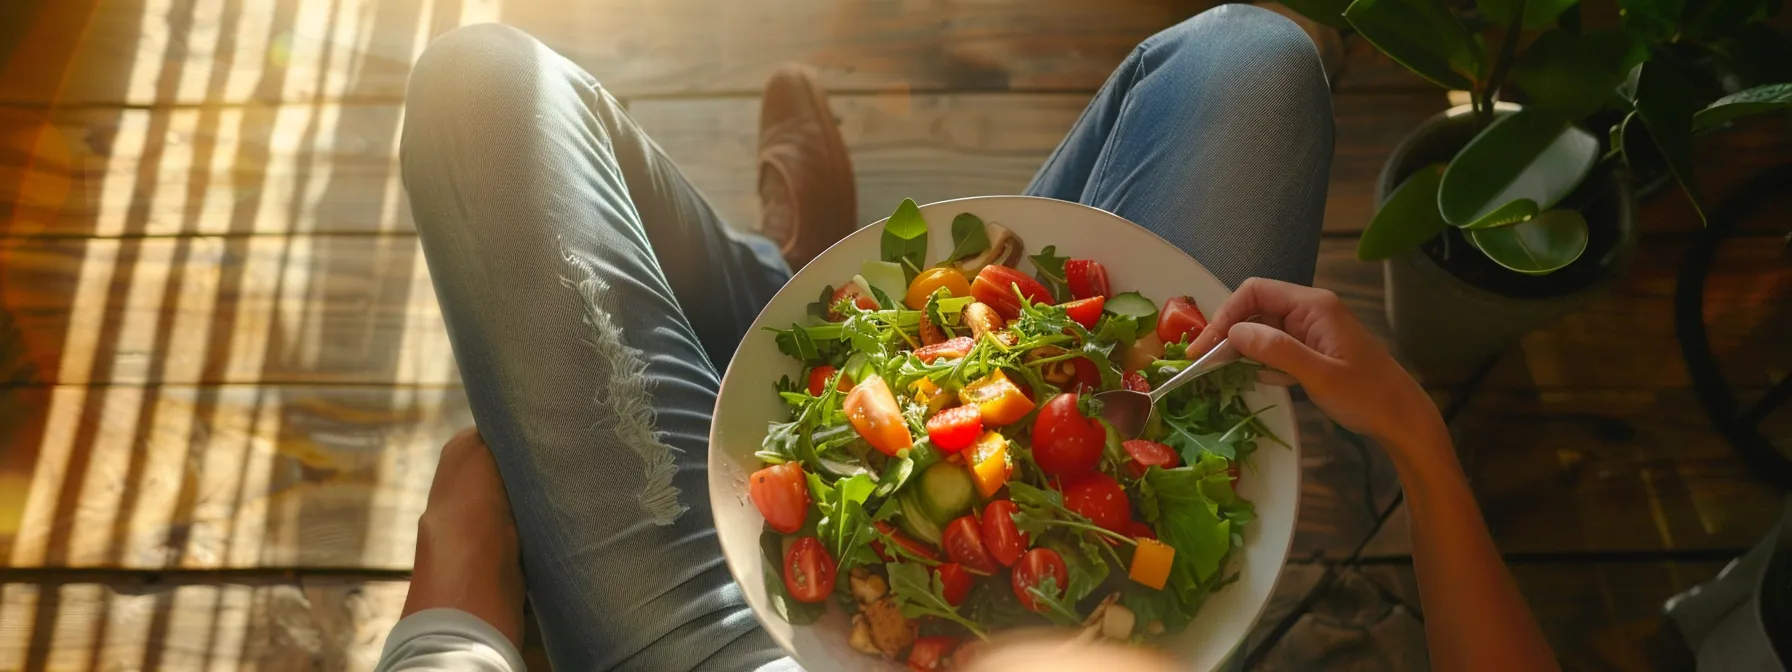
M 409 570 L 459 389 L 13 387 L 0 563 Z M 4 668 L 4 665 L 0 665 Z

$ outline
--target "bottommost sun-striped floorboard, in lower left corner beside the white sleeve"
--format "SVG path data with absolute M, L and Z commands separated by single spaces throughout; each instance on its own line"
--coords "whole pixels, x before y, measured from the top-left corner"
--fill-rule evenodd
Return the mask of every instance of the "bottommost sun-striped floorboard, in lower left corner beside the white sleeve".
M 373 670 L 405 581 L 0 586 L 7 670 Z

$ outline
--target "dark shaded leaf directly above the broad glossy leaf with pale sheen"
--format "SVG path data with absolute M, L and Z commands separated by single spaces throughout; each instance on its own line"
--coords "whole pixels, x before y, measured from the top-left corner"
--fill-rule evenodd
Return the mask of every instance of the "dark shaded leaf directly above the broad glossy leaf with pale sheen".
M 1530 95 L 1530 108 L 1581 118 L 1611 100 L 1625 72 L 1643 56 L 1641 45 L 1622 32 L 1548 30 L 1512 66 L 1512 82 Z

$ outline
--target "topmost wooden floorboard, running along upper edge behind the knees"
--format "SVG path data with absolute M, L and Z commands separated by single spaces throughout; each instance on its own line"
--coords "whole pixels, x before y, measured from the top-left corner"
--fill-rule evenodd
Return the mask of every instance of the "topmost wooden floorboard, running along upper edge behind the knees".
M 0 102 L 387 100 L 426 38 L 504 22 L 618 95 L 753 93 L 780 63 L 837 91 L 1093 91 L 1142 39 L 1211 4 L 1043 0 L 95 0 L 66 84 L 23 81 Z

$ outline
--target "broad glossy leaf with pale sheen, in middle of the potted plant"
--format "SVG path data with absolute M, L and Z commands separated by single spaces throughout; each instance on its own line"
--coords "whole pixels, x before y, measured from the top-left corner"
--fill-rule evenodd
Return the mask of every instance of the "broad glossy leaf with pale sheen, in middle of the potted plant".
M 1557 113 L 1521 109 L 1495 120 L 1450 161 L 1437 185 L 1437 211 L 1468 226 L 1518 199 L 1550 208 L 1597 159 L 1598 138 Z

